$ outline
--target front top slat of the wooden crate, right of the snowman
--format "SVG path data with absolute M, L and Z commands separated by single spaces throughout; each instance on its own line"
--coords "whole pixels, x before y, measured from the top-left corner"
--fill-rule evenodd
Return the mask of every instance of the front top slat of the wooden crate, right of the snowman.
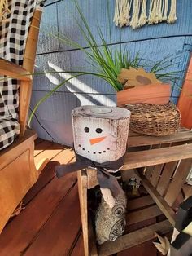
M 192 144 L 157 148 L 150 151 L 129 152 L 125 156 L 124 166 L 121 170 L 153 166 L 190 157 L 192 157 Z

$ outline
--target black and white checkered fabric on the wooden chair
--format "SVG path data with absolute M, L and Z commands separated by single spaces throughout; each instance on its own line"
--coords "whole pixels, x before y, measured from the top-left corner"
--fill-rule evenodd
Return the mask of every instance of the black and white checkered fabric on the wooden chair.
M 22 65 L 28 28 L 35 9 L 42 0 L 9 0 L 7 22 L 0 21 L 0 57 Z M 18 122 L 20 82 L 0 77 L 0 150 L 10 145 L 20 134 Z

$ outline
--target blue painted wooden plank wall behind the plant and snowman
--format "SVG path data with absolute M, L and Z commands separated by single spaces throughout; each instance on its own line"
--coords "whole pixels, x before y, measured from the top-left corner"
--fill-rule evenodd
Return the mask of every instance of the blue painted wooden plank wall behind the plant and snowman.
M 110 0 L 109 12 L 111 20 L 114 13 L 115 0 Z M 117 28 L 111 22 L 111 42 L 107 22 L 107 0 L 79 0 L 81 10 L 89 23 L 98 45 L 102 45 L 98 37 L 97 23 L 100 25 L 107 43 L 112 47 L 127 47 L 132 56 L 137 52 L 146 60 L 151 60 L 151 65 L 165 57 L 170 57 L 170 64 L 175 63 L 168 70 L 185 70 L 192 48 L 192 0 L 177 0 L 177 22 L 175 24 L 146 25 L 141 29 Z M 78 70 L 89 68 L 82 51 L 67 46 L 51 34 L 66 35 L 86 47 L 76 19 L 81 24 L 72 0 L 46 2 L 41 33 L 37 50 L 36 71 Z M 54 86 L 66 79 L 70 74 L 50 74 L 37 76 L 33 84 L 33 97 L 31 108 L 46 95 Z M 184 73 L 178 85 L 172 87 L 172 101 L 177 103 Z M 39 137 L 55 140 L 58 143 L 72 145 L 71 111 L 82 104 L 116 105 L 116 92 L 96 77 L 77 77 L 59 88 L 38 108 L 36 117 L 33 118 L 33 128 Z

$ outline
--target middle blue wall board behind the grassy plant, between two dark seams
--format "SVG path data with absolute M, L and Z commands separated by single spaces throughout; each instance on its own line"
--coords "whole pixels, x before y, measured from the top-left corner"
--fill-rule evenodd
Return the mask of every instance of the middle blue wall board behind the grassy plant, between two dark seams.
M 168 67 L 163 72 L 184 70 L 188 62 L 189 51 L 184 48 L 186 37 L 178 37 L 177 41 L 172 43 L 172 38 L 149 39 L 146 41 L 129 42 L 122 45 L 129 49 L 130 55 L 133 57 L 139 55 L 145 59 L 146 69 L 150 68 L 158 61 L 170 56 L 170 60 L 166 65 L 174 65 Z M 192 43 L 192 38 L 188 43 Z M 114 49 L 120 49 L 120 43 L 112 46 Z M 36 61 L 36 72 L 68 72 L 68 71 L 88 71 L 96 73 L 96 69 L 87 63 L 88 58 L 82 51 L 62 51 L 52 54 L 38 55 Z M 178 72 L 175 77 L 180 77 L 181 80 L 173 86 L 172 97 L 178 97 L 181 90 L 178 86 L 182 84 L 183 72 Z M 46 74 L 45 76 L 35 76 L 33 82 L 33 90 L 51 90 L 65 79 L 72 77 L 72 73 Z M 71 91 L 79 93 L 93 94 L 114 94 L 115 90 L 98 77 L 85 75 L 76 77 L 59 88 L 59 91 Z

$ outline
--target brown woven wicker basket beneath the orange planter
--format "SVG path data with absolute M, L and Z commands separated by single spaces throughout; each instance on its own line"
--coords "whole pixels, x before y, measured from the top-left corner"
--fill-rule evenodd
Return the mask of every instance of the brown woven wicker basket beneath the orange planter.
M 124 108 L 132 113 L 130 129 L 139 134 L 172 135 L 180 127 L 181 114 L 172 102 L 165 105 L 127 104 Z

